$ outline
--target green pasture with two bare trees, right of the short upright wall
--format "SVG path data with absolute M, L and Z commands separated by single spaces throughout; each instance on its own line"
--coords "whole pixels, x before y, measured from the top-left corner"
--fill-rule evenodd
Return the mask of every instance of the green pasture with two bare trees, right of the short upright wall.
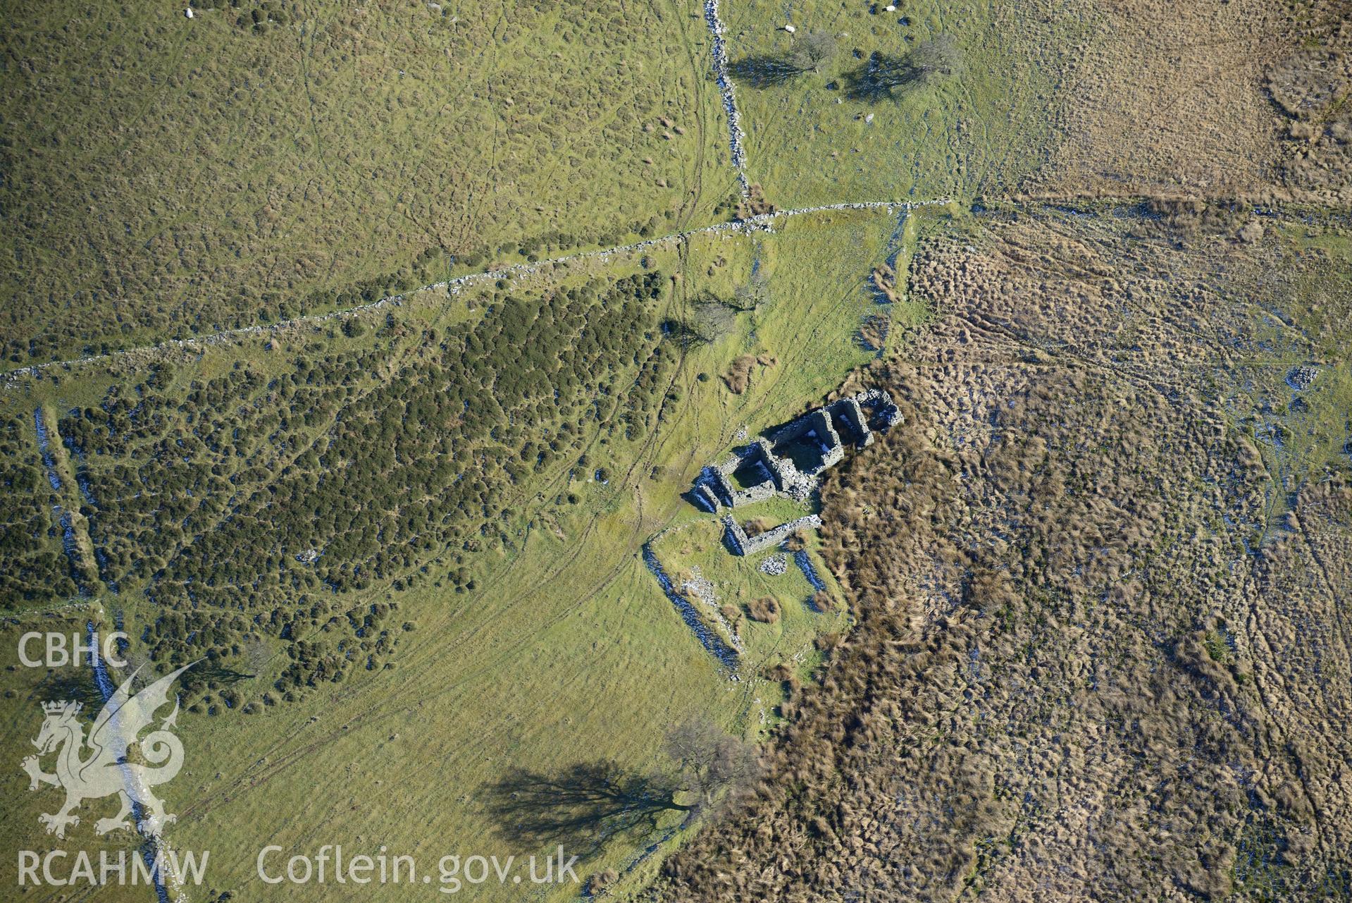
M 818 70 L 737 85 L 748 176 L 771 203 L 1002 195 L 1044 161 L 1067 47 L 1087 36 L 1087 15 L 1049 18 L 1040 4 L 986 0 L 884 5 L 814 0 L 788 14 L 760 0 L 730 5 L 734 64 L 783 57 L 808 32 L 834 35 Z M 940 36 L 956 46 L 952 76 L 887 97 L 852 95 L 852 74 L 871 54 L 904 57 Z

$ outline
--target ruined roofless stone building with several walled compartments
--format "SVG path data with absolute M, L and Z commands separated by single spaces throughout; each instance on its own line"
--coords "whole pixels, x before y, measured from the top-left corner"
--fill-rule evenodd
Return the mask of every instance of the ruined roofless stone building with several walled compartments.
M 746 535 L 734 512 L 756 502 L 784 495 L 799 502 L 817 492 L 821 476 L 845 457 L 846 446 L 867 447 L 873 431 L 892 426 L 900 412 L 882 389 L 850 395 L 757 437 L 737 449 L 722 464 L 700 470 L 691 497 L 702 508 L 723 516 L 725 539 L 734 554 L 749 556 L 783 542 L 799 527 L 819 527 L 822 520 L 810 514 L 777 527 Z

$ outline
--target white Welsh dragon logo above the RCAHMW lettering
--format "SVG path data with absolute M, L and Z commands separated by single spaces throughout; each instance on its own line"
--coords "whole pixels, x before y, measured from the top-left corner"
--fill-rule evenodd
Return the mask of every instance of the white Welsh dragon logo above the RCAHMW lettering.
M 41 784 L 66 791 L 65 806 L 55 814 L 38 816 L 46 826 L 47 834 L 64 838 L 66 826 L 80 823 L 80 816 L 72 815 L 80 803 L 114 794 L 122 810 L 112 818 L 100 818 L 95 822 L 97 834 L 107 834 L 118 827 L 130 829 L 131 822 L 127 816 L 134 812 L 134 806 L 139 808 L 138 827 L 143 834 L 158 835 L 165 825 L 177 818 L 165 811 L 164 802 L 150 792 L 150 788 L 173 780 L 183 768 L 183 742 L 173 734 L 178 719 L 178 698 L 174 696 L 173 711 L 160 722 L 157 730 L 145 737 L 139 734 L 151 726 L 155 711 L 169 703 L 169 687 L 188 668 L 192 665 L 184 665 L 165 675 L 132 695 L 131 681 L 141 672 L 138 668 L 104 703 L 93 719 L 88 739 L 84 735 L 84 725 L 76 718 L 80 714 L 80 703 L 42 703 L 46 718 L 38 738 L 32 741 L 38 754 L 23 760 L 23 771 L 28 773 L 31 791 L 38 789 Z M 149 765 L 127 761 L 127 748 L 132 745 L 139 746 L 138 758 Z M 89 749 L 88 756 L 82 754 L 85 748 Z M 57 753 L 54 775 L 43 772 L 39 765 L 39 758 L 51 752 Z

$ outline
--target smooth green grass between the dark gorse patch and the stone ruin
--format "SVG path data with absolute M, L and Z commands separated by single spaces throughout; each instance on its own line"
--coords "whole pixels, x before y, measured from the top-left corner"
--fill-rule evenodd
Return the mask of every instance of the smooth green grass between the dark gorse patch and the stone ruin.
M 744 735 L 773 723 L 781 689 L 763 670 L 788 662 L 810 676 L 819 661 L 813 638 L 840 630 L 844 615 L 813 612 L 803 604 L 810 588 L 792 562 L 788 573 L 771 579 L 754 562 L 722 552 L 713 515 L 696 512 L 680 492 L 703 464 L 726 453 L 738 429 L 756 433 L 775 426 L 818 403 L 871 360 L 873 353 L 861 347 L 857 331 L 864 316 L 883 310 L 871 292 L 869 273 L 899 251 L 898 226 L 895 215 L 840 212 L 784 219 L 773 234 L 700 235 L 650 254 L 650 265 L 680 276 L 668 316 L 695 316 L 708 292 L 726 297 L 741 288 L 758 300 L 719 320 L 722 331 L 713 341 L 685 350 L 672 376 L 680 400 L 661 424 L 635 439 L 617 433 L 591 446 L 589 466 L 604 466 L 607 483 L 585 476 L 569 481 L 564 470 L 534 479 L 514 504 L 515 530 L 508 533 L 519 533 L 519 541 L 469 560 L 475 591 L 452 592 L 439 570 L 449 565 L 429 564 L 412 588 L 393 593 L 395 618 L 412 622 L 415 630 L 399 637 L 391 669 L 356 669 L 339 684 L 320 684 L 297 702 L 261 706 L 256 714 L 185 711 L 180 733 L 188 764 L 176 792 L 165 795 L 180 815 L 166 833 L 174 849 L 212 850 L 208 884 L 234 891 L 235 899 L 270 889 L 254 877 L 254 857 L 265 842 L 295 852 L 323 842 L 342 842 L 353 852 L 385 845 L 431 862 L 453 852 L 506 854 L 483 807 L 485 785 L 508 766 L 550 769 L 604 756 L 642 768 L 654 760 L 667 726 L 685 716 L 713 712 Z M 638 264 L 634 258 L 580 264 L 576 272 L 529 277 L 515 291 L 584 281 L 598 268 L 623 274 L 638 270 Z M 425 293 L 400 308 L 399 319 L 445 327 L 483 312 L 480 307 L 470 314 L 462 304 Z M 352 342 L 337 330 L 330 337 L 329 330 L 334 327 L 299 327 L 270 341 L 280 349 L 311 347 L 314 356 L 327 345 Z M 181 361 L 176 385 L 233 372 L 233 361 L 258 357 L 264 341 L 214 346 Z M 745 393 L 733 395 L 718 374 L 748 351 L 773 356 L 776 362 L 754 373 Z M 284 354 L 258 360 L 285 366 Z M 55 385 L 50 377 L 30 380 L 12 388 L 5 404 L 19 416 L 37 404 L 64 411 L 99 399 L 114 377 L 99 366 L 87 369 L 62 374 Z M 30 419 L 27 443 L 35 442 L 31 430 Z M 581 500 L 561 510 L 552 497 L 564 487 Z M 690 562 L 725 587 L 730 599 L 741 589 L 742 597 L 769 592 L 783 602 L 779 623 L 744 627 L 746 656 L 738 681 L 729 681 L 696 642 L 642 562 L 642 545 L 667 527 L 672 530 L 654 545 L 664 557 L 671 553 L 672 566 L 683 566 L 688 550 Z M 688 549 L 672 543 L 673 537 L 681 543 L 692 538 Z M 817 566 L 834 587 L 825 566 L 819 561 Z M 391 596 L 385 580 L 342 593 L 342 604 Z M 104 592 L 101 602 L 104 626 L 118 612 L 134 638 L 161 614 L 135 585 L 118 596 Z M 80 625 L 84 616 L 70 623 Z M 39 620 L 37 614 L 16 614 L 8 630 Z M 277 641 L 268 642 L 276 657 L 258 676 L 231 685 L 245 698 L 257 698 L 285 664 Z M 50 680 L 59 679 L 58 673 Z M 50 680 L 42 688 L 47 695 Z M 11 725 L 7 749 L 19 754 L 27 734 L 37 731 L 35 700 L 47 696 L 34 685 L 14 685 L 16 693 L 3 706 Z M 19 814 L 7 822 L 5 845 L 42 845 L 37 812 L 51 800 L 30 795 L 22 773 L 7 779 L 4 794 L 7 811 Z M 73 830 L 85 831 L 87 825 Z M 110 838 L 114 848 L 132 842 L 131 835 Z M 615 845 L 587 868 L 622 868 L 634 853 Z M 633 880 L 646 867 L 635 869 Z M 7 862 L 0 880 L 11 880 L 12 868 Z M 358 895 L 333 885 L 289 889 L 312 899 Z M 107 899 L 145 895 L 143 888 L 123 892 Z M 485 885 L 476 899 L 511 899 L 495 894 Z

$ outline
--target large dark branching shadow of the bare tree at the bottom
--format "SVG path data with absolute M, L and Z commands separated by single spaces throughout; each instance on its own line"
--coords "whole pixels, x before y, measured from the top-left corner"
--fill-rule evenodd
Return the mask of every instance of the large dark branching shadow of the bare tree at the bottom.
M 487 789 L 499 834 L 531 850 L 562 844 L 585 854 L 615 837 L 656 831 L 664 812 L 694 810 L 676 802 L 681 787 L 673 777 L 639 775 L 611 760 L 579 762 L 553 776 L 514 769 Z

